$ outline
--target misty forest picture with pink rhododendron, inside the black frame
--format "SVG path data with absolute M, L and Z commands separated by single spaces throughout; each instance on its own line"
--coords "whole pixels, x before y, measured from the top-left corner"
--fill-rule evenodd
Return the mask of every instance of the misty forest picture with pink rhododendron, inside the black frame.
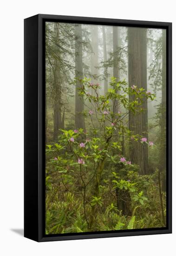
M 45 26 L 46 235 L 166 227 L 166 30 Z

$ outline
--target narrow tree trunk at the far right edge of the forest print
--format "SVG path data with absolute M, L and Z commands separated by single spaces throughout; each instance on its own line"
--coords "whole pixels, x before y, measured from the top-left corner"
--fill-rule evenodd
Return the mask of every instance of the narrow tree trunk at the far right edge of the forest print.
M 166 190 L 166 30 L 162 34 L 162 102 L 161 102 L 161 144 L 160 144 L 160 169 L 163 176 L 163 190 Z

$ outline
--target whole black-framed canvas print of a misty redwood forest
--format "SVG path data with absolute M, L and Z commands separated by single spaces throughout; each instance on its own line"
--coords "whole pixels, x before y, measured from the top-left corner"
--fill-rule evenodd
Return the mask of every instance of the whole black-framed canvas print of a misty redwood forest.
M 171 23 L 25 20 L 25 237 L 171 233 Z

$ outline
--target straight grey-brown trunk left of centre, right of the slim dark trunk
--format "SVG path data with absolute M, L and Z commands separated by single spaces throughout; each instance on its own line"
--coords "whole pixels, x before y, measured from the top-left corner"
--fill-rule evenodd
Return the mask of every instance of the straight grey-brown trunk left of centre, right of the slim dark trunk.
M 82 27 L 81 24 L 75 26 L 75 76 L 78 79 L 83 79 L 83 49 L 82 49 Z M 75 91 L 75 128 L 83 128 L 85 130 L 85 119 L 83 116 L 84 101 L 79 96 L 78 88 L 81 87 L 81 82 L 78 81 Z

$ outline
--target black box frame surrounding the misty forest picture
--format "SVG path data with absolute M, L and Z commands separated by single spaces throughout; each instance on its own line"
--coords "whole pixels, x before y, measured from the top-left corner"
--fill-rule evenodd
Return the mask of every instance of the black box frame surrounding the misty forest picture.
M 167 226 L 166 228 L 45 235 L 45 22 L 165 28 L 167 40 Z M 172 23 L 38 14 L 24 20 L 24 236 L 38 242 L 172 232 Z

